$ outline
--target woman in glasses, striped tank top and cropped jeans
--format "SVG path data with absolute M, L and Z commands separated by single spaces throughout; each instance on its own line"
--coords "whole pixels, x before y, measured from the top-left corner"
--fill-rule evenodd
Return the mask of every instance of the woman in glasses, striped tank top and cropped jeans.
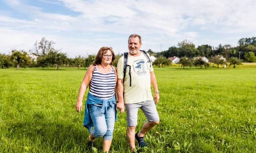
M 82 99 L 88 86 L 84 111 L 84 127 L 90 133 L 88 147 L 92 149 L 92 142 L 97 137 L 103 137 L 103 151 L 108 152 L 116 121 L 116 69 L 112 66 L 115 59 L 111 47 L 102 47 L 84 75 L 79 89 L 76 110 L 82 110 Z M 116 91 L 116 92 L 115 92 Z M 116 93 L 116 94 L 115 94 Z M 94 129 L 92 127 L 94 126 Z

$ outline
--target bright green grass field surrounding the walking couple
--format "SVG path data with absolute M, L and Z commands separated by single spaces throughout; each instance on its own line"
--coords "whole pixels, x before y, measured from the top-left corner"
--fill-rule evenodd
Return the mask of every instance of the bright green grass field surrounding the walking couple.
M 87 152 L 75 103 L 84 69 L 0 69 L 0 152 Z M 141 152 L 256 152 L 256 69 L 155 68 L 160 124 Z M 87 92 L 86 92 L 87 93 Z M 85 94 L 86 95 L 86 94 Z M 86 96 L 84 97 L 84 99 Z M 138 127 L 146 118 L 139 111 Z M 111 152 L 126 153 L 118 112 Z M 102 140 L 96 139 L 98 151 Z

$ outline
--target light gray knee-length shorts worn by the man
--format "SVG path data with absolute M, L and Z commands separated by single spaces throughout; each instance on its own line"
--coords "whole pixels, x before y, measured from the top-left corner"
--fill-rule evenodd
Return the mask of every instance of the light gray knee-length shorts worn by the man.
M 139 108 L 143 111 L 148 121 L 159 121 L 156 105 L 153 100 L 139 102 L 135 104 L 125 104 L 127 126 L 137 126 Z

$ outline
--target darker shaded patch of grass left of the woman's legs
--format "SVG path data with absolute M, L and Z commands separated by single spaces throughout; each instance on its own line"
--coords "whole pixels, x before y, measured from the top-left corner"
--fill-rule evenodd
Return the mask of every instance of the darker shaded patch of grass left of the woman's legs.
M 60 123 L 48 122 L 46 119 L 37 121 L 15 122 L 9 124 L 8 131 L 9 137 L 13 139 L 20 139 L 20 135 L 25 139 L 34 142 L 34 146 L 38 146 L 38 150 L 51 149 L 52 152 L 74 150 L 79 152 L 86 152 L 88 130 L 83 128 L 81 124 L 74 123 Z M 21 146 L 28 145 L 26 142 L 19 142 Z M 100 145 L 100 144 L 99 144 Z M 31 146 L 31 147 L 34 147 Z

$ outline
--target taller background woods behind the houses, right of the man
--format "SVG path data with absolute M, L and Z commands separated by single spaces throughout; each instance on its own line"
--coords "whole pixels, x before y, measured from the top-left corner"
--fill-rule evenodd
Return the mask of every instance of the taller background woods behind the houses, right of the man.
M 150 50 L 150 53 L 156 57 L 164 56 L 168 57 L 206 57 L 210 59 L 218 55 L 222 55 L 226 59 L 230 57 L 237 57 L 242 61 L 256 62 L 256 37 L 241 38 L 238 41 L 238 46 L 232 47 L 229 44 L 218 45 L 217 47 L 211 45 L 199 45 L 196 47 L 191 41 L 184 40 L 178 43 L 178 47 L 172 46 L 168 50 L 154 53 Z

